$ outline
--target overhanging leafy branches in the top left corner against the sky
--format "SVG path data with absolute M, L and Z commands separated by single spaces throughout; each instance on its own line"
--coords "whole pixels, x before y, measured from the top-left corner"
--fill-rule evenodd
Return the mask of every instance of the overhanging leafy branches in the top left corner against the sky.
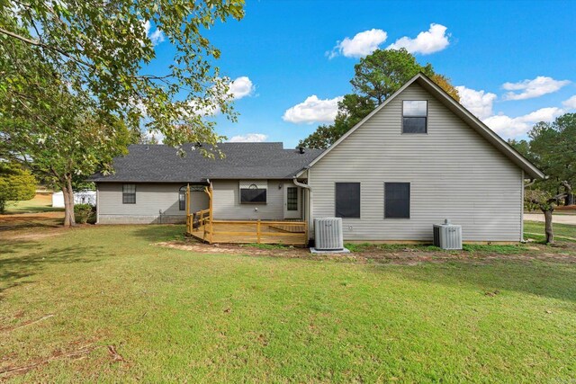
M 88 94 L 98 110 L 125 121 L 132 131 L 140 125 L 155 129 L 172 145 L 215 144 L 220 139 L 213 131 L 215 122 L 205 115 L 216 110 L 232 120 L 236 115 L 230 105 L 229 79 L 213 66 L 220 50 L 202 33 L 215 22 L 240 20 L 243 5 L 243 0 L 4 1 L 0 93 L 15 92 L 14 99 L 25 108 L 29 86 L 38 79 L 40 58 L 48 67 L 41 79 Z M 148 36 L 151 25 L 175 47 L 172 58 L 163 57 L 171 63 L 166 73 L 144 72 L 157 58 Z M 14 55 L 14 49 L 23 45 L 29 55 Z

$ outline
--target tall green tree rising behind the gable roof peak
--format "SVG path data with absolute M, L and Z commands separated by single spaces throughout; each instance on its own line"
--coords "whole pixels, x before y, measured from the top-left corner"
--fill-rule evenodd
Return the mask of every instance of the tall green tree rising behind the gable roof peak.
M 429 76 L 456 101 L 460 100 L 450 80 L 434 72 L 431 64 L 421 66 L 406 49 L 377 49 L 356 64 L 355 76 L 350 81 L 355 93 L 345 95 L 338 103 L 334 123 L 320 125 L 298 146 L 329 147 L 419 72 Z

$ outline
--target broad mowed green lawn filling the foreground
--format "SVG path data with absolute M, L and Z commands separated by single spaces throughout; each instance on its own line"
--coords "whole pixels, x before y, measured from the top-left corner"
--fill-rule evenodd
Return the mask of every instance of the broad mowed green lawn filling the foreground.
M 0 238 L 0 371 L 28 367 L 0 380 L 576 378 L 574 263 L 375 265 L 153 245 L 183 232 Z

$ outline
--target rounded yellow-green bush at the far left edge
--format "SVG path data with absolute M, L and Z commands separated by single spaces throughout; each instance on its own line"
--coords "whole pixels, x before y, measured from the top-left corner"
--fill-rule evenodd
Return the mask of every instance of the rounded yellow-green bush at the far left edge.
M 36 194 L 36 179 L 19 165 L 0 162 L 0 213 L 8 201 L 26 201 Z

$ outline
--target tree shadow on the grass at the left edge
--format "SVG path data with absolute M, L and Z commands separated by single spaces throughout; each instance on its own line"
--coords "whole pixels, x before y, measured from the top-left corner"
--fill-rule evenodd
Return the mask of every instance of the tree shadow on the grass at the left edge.
M 94 263 L 104 257 L 100 246 L 52 246 L 38 250 L 40 246 L 35 241 L 3 241 L 0 246 L 0 294 L 32 282 L 33 276 L 50 265 Z

